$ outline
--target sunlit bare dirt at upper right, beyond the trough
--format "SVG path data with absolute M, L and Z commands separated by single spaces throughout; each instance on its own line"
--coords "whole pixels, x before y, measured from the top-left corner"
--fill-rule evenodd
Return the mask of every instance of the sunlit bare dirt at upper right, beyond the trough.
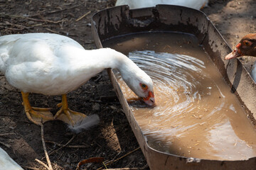
M 203 12 L 220 31 L 228 45 L 234 50 L 235 45 L 248 33 L 256 33 L 255 0 L 220 0 L 210 1 Z M 251 71 L 256 57 L 240 57 L 248 72 Z

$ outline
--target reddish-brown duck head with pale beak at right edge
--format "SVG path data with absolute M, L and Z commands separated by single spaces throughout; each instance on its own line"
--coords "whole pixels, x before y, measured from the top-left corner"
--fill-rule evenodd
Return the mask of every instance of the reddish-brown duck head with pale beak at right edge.
M 243 55 L 256 57 L 256 33 L 245 35 L 235 47 L 236 50 L 233 50 L 233 52 L 226 55 L 225 60 L 241 57 Z

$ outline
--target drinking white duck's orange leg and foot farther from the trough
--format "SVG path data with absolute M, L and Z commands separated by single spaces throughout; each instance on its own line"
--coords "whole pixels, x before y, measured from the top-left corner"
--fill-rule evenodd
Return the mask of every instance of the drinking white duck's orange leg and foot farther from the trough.
M 53 114 L 50 113 L 50 108 L 34 108 L 31 107 L 28 101 L 28 93 L 24 93 L 21 91 L 22 99 L 23 99 L 23 107 L 25 113 L 31 122 L 35 123 L 36 125 L 41 125 L 41 119 L 43 119 L 43 123 L 48 120 L 53 120 Z

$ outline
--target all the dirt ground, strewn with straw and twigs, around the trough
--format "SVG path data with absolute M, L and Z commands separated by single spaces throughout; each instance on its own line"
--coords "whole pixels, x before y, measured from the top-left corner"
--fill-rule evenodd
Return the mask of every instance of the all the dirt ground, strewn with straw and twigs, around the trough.
M 68 35 L 86 49 L 95 48 L 90 18 L 93 13 L 114 6 L 114 0 L 0 0 L 0 33 L 58 33 Z M 247 33 L 256 33 L 255 0 L 210 0 L 203 12 L 234 48 Z M 85 15 L 85 17 L 80 18 Z M 250 70 L 253 58 L 242 58 Z M 61 96 L 31 94 L 32 106 L 53 108 Z M 75 169 L 78 162 L 90 157 L 117 160 L 107 169 L 149 169 L 132 129 L 122 112 L 106 72 L 68 94 L 70 108 L 86 115 L 97 114 L 100 124 L 73 135 L 62 122 L 45 123 L 44 137 L 54 169 Z M 35 161 L 46 163 L 41 142 L 41 127 L 31 123 L 23 111 L 20 91 L 9 86 L 0 73 L 0 147 L 24 169 L 45 169 Z M 60 148 L 70 142 L 67 146 Z M 137 149 L 137 150 L 134 150 Z M 132 152 L 134 151 L 134 152 Z M 132 152 L 128 154 L 129 152 Z M 125 156 L 128 154 L 127 156 Z M 122 159 L 119 159 L 120 157 Z M 83 169 L 105 169 L 103 164 L 85 164 Z

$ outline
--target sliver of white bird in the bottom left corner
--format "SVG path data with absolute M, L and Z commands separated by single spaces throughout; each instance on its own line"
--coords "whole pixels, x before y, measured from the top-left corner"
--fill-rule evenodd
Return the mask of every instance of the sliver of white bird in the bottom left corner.
M 11 159 L 9 154 L 7 154 L 4 149 L 0 147 L 0 170 L 23 170 L 14 159 Z

